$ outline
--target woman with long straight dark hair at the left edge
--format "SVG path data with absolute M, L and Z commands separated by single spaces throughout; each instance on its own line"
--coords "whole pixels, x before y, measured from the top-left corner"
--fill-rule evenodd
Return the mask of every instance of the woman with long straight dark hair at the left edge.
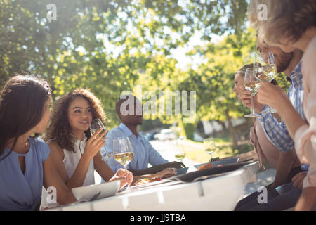
M 76 201 L 53 167 L 50 150 L 37 137 L 50 119 L 51 91 L 35 77 L 15 76 L 0 94 L 0 210 L 34 210 L 42 186 L 60 204 Z

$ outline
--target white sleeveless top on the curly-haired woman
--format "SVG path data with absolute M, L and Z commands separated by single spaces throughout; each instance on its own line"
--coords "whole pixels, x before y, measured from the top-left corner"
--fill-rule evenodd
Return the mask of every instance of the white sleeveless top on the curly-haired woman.
M 86 136 L 84 136 L 84 140 L 80 141 L 79 139 L 76 139 L 74 141 L 74 152 L 62 149 L 62 151 L 64 152 L 64 159 L 62 160 L 62 162 L 64 163 L 65 169 L 67 171 L 67 180 L 69 180 L 74 174 L 74 171 L 77 168 L 79 160 L 81 156 L 84 154 L 84 148 L 86 147 L 86 139 Z M 84 184 L 82 186 L 88 186 L 92 184 L 95 184 L 93 159 L 90 161 L 88 171 L 86 173 L 86 179 L 84 179 Z M 40 210 L 58 206 L 58 203 L 53 203 L 54 200 L 50 200 L 49 197 L 50 196 L 48 196 L 48 192 L 43 187 L 41 192 Z

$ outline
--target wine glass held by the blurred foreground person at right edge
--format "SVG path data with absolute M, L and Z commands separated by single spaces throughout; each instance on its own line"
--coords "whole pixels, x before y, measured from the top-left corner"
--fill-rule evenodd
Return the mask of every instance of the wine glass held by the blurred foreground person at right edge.
M 261 82 L 271 82 L 277 76 L 277 65 L 272 51 L 255 53 L 254 71 L 255 76 Z M 270 113 L 277 113 L 277 110 L 270 107 Z

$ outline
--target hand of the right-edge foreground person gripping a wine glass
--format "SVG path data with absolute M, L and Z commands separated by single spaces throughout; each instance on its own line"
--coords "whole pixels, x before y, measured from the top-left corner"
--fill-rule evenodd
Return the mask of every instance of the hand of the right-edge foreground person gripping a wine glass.
M 261 83 L 257 96 L 259 103 L 269 105 L 277 111 L 279 111 L 278 108 L 284 107 L 284 103 L 289 101 L 287 94 L 281 87 L 268 82 Z

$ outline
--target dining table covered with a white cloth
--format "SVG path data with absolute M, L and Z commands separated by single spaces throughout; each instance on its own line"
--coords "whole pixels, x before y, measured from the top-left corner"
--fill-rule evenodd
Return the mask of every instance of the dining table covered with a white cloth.
M 205 172 L 187 168 L 186 174 L 88 202 L 60 205 L 47 211 L 230 211 L 243 197 L 246 184 L 256 181 L 258 161 L 236 169 Z M 215 171 L 215 172 L 214 172 Z M 218 170 L 220 171 L 220 170 Z

